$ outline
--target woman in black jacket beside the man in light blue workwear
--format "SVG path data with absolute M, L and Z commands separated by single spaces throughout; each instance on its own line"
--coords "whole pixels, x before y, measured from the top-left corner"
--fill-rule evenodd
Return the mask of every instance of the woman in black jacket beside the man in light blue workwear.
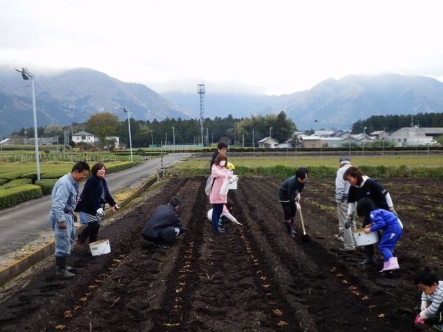
M 112 210 L 118 209 L 117 203 L 109 194 L 108 186 L 104 178 L 106 167 L 102 163 L 96 163 L 91 168 L 91 176 L 84 184 L 83 192 L 80 195 L 80 223 L 87 224 L 82 234 L 78 236 L 75 248 L 80 251 L 87 251 L 84 242 L 89 238 L 89 243 L 97 241 L 100 221 L 105 216 L 105 205 L 109 204 Z M 76 209 L 77 210 L 77 209 Z

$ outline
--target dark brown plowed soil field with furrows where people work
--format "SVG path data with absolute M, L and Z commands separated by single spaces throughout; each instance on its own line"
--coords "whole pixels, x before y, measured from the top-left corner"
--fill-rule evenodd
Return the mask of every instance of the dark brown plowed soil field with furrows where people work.
M 0 331 L 431 331 L 415 326 L 415 271 L 439 267 L 442 179 L 383 178 L 404 233 L 400 270 L 360 266 L 364 252 L 338 250 L 335 179 L 309 178 L 291 239 L 282 224 L 283 178 L 240 178 L 228 196 L 242 226 L 213 234 L 206 219 L 206 178 L 171 178 L 100 231 L 111 252 L 71 252 L 74 279 L 56 279 L 53 257 L 1 288 Z M 140 236 L 157 205 L 183 202 L 189 232 L 169 249 Z M 360 222 L 357 224 L 361 225 Z

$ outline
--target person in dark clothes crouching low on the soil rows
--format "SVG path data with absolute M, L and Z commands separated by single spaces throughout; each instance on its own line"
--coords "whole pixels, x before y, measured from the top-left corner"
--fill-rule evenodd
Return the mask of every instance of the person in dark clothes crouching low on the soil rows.
M 186 231 L 177 214 L 180 205 L 179 199 L 172 198 L 168 205 L 157 207 L 141 231 L 143 239 L 159 248 L 169 248 L 177 241 L 177 237 Z

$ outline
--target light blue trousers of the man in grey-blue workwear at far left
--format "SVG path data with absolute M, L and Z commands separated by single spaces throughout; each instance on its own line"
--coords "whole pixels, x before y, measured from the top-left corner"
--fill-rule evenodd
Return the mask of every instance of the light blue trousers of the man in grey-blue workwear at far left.
M 64 220 L 66 221 L 65 230 L 58 228 L 58 222 L 55 214 L 52 210 L 49 212 L 49 223 L 54 231 L 56 257 L 66 257 L 71 255 L 71 246 L 75 241 L 75 226 L 73 216 L 65 213 Z

